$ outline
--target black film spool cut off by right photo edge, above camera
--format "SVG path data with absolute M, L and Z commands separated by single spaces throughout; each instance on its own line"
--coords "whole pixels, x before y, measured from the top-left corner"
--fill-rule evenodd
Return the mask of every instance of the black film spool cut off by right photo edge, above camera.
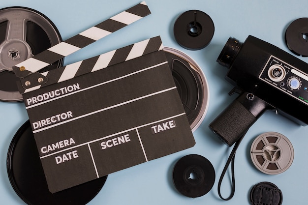
M 297 19 L 288 26 L 285 42 L 295 55 L 308 57 L 308 18 Z

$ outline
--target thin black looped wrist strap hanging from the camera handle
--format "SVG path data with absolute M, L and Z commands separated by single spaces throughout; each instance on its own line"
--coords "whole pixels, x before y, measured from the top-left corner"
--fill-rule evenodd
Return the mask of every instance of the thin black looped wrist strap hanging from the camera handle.
M 235 145 L 234 145 L 234 147 L 233 147 L 233 149 L 232 149 L 232 151 L 231 151 L 231 153 L 230 153 L 230 155 L 229 155 L 229 158 L 228 158 L 228 160 L 227 160 L 227 162 L 226 162 L 226 165 L 224 166 L 223 171 L 222 171 L 222 173 L 221 173 L 221 175 L 220 175 L 219 181 L 218 181 L 218 195 L 219 195 L 220 199 L 225 200 L 225 201 L 228 201 L 228 200 L 232 199 L 232 197 L 233 197 L 233 195 L 234 195 L 234 193 L 235 193 L 235 177 L 234 177 L 234 159 L 235 159 L 235 153 L 236 153 L 236 150 L 238 149 L 239 145 L 241 144 L 241 141 L 242 141 L 242 139 L 244 138 L 245 134 L 246 134 L 246 132 L 245 132 L 245 133 L 243 134 L 243 136 L 235 143 Z M 232 176 L 231 176 L 231 177 L 232 177 L 231 194 L 230 194 L 230 196 L 229 196 L 228 198 L 223 198 L 223 197 L 221 196 L 221 193 L 220 193 L 220 186 L 221 186 L 222 179 L 223 179 L 224 175 L 226 174 L 227 169 L 228 169 L 230 163 L 231 163 L 231 175 L 232 175 Z

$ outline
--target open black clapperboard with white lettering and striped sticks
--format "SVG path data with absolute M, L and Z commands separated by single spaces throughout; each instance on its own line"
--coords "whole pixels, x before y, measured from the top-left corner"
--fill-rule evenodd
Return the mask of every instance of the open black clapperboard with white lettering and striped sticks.
M 141 2 L 13 67 L 50 192 L 194 146 L 159 36 L 37 72 L 148 14 Z

